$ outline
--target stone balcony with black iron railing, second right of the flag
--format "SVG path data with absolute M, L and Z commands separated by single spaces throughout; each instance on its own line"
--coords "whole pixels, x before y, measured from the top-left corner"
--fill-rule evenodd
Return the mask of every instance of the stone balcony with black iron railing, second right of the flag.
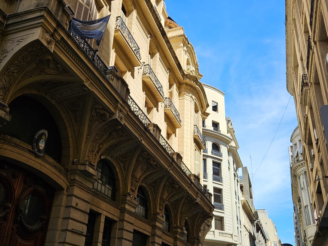
M 156 77 L 153 69 L 149 64 L 144 65 L 142 71 L 142 80 L 145 82 L 149 90 L 153 93 L 157 102 L 164 102 L 163 86 Z

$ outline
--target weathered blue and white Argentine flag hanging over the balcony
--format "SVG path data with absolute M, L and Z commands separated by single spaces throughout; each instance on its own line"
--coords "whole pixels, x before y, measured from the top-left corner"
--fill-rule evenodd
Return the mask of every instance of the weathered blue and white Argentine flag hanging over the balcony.
M 72 18 L 68 31 L 81 38 L 96 39 L 96 45 L 99 46 L 110 16 L 111 15 L 107 15 L 93 21 L 81 21 L 76 18 Z

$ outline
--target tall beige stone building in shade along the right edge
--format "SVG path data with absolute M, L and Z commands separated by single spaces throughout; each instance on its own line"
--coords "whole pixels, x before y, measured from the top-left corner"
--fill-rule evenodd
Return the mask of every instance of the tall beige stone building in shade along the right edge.
M 323 0 L 286 0 L 287 90 L 295 100 L 316 223 L 315 246 L 328 245 L 328 152 L 320 113 L 328 104 L 327 7 Z

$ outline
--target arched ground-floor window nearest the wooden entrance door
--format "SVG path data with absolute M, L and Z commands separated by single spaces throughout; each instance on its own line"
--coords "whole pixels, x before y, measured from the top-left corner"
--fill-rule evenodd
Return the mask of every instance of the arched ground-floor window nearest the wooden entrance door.
M 93 184 L 93 189 L 101 192 L 115 201 L 115 178 L 109 164 L 103 160 L 98 161 L 96 170 L 98 171 L 98 182 Z

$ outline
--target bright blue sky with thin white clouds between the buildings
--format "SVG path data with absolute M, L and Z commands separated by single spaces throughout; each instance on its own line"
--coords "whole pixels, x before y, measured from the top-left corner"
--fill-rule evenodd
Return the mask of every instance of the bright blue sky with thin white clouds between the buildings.
M 226 116 L 233 122 L 279 123 L 290 98 L 285 1 L 166 0 L 166 5 L 195 48 L 201 82 L 225 92 Z M 243 165 L 250 173 L 259 167 L 252 181 L 256 209 L 267 209 L 281 243 L 295 245 L 288 157 L 297 126 L 293 97 L 282 123 L 260 167 L 278 125 L 234 127 Z

